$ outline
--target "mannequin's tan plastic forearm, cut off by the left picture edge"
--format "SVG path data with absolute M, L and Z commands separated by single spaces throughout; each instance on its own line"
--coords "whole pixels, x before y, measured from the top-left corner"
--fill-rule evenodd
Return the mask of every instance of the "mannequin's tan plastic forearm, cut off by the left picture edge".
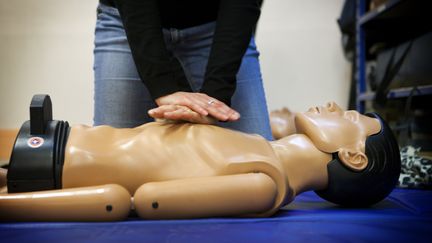
M 129 192 L 115 184 L 0 194 L 1 221 L 114 221 L 130 208 Z

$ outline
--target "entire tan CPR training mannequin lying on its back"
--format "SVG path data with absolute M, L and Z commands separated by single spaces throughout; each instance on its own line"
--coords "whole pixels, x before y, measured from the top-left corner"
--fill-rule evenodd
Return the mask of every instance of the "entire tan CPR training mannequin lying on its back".
M 41 99 L 42 116 L 50 118 L 49 99 Z M 51 130 L 31 120 L 21 128 L 9 194 L 0 196 L 1 219 L 122 220 L 131 209 L 146 219 L 266 217 L 307 190 L 366 206 L 391 192 L 400 171 L 398 146 L 384 121 L 335 103 L 297 114 L 302 134 L 273 142 L 191 123 L 68 129 L 57 122 Z M 31 135 L 43 126 L 43 134 Z M 50 148 L 52 156 L 41 155 Z

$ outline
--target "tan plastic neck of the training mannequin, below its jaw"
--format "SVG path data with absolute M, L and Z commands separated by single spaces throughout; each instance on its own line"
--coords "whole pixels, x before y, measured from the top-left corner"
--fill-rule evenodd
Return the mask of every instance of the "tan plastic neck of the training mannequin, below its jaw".
M 332 159 L 331 154 L 318 150 L 303 134 L 273 141 L 271 145 L 284 167 L 294 196 L 327 187 L 327 164 Z

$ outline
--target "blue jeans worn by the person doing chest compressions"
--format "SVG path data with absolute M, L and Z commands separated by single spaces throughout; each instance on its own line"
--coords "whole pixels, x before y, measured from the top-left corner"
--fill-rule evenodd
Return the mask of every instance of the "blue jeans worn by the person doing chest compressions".
M 176 57 L 194 92 L 200 90 L 215 23 L 163 29 L 166 47 Z M 259 53 L 252 38 L 237 74 L 231 107 L 241 114 L 236 122 L 217 125 L 271 140 Z M 94 125 L 135 127 L 153 121 L 147 111 L 156 107 L 138 76 L 122 21 L 116 8 L 98 6 L 94 48 Z

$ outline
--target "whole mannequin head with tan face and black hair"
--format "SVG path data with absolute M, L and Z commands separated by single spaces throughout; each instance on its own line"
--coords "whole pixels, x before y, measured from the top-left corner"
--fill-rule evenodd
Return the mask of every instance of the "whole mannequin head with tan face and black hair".
M 400 155 L 388 125 L 376 114 L 343 111 L 334 102 L 298 114 L 296 125 L 321 151 L 331 153 L 329 182 L 318 191 L 345 206 L 366 206 L 385 198 L 400 173 Z

